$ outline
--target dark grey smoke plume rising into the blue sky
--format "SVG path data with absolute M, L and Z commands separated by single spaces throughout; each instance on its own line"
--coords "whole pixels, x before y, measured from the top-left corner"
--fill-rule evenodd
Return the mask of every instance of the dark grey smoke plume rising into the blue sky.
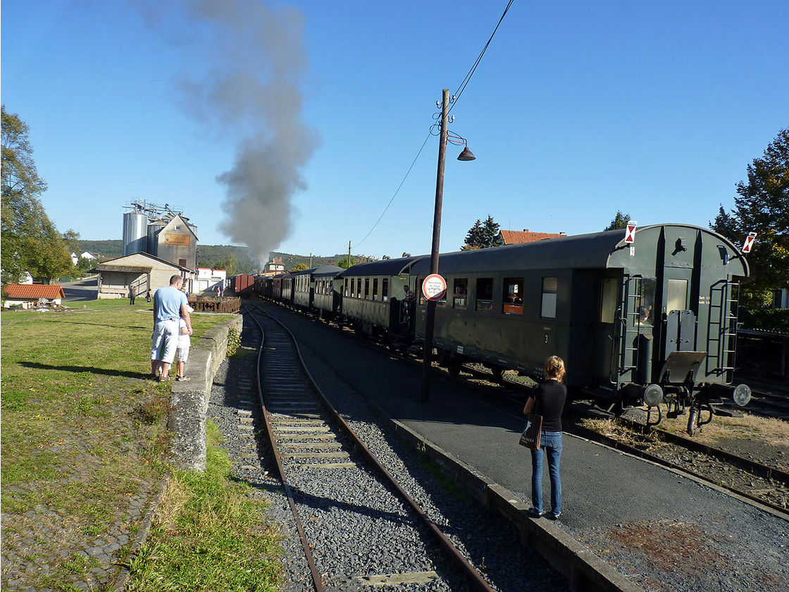
M 183 6 L 195 27 L 189 36 L 208 44 L 199 59 L 211 58 L 198 66 L 209 66 L 204 75 L 181 82 L 182 106 L 245 136 L 233 167 L 217 177 L 226 187 L 219 230 L 264 263 L 290 234 L 291 198 L 306 188 L 301 169 L 320 144 L 301 115 L 303 18 L 263 0 L 185 0 Z

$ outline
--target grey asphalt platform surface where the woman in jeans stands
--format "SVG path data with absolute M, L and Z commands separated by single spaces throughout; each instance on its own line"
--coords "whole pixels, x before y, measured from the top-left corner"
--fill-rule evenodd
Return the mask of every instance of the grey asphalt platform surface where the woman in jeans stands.
M 279 305 L 264 309 L 391 418 L 530 503 L 522 416 L 439 373 L 422 403 L 420 366 Z M 789 590 L 787 519 L 588 440 L 563 440 L 556 524 L 645 590 Z M 543 485 L 548 511 L 547 469 Z

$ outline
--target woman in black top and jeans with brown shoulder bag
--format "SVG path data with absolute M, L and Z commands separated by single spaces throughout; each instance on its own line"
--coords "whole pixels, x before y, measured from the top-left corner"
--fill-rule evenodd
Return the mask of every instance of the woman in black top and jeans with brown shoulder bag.
M 564 380 L 564 360 L 551 356 L 545 361 L 543 381 L 526 401 L 523 413 L 542 415 L 540 449 L 532 451 L 532 506 L 529 515 L 539 518 L 542 511 L 543 450 L 548 453 L 548 474 L 551 475 L 551 513 L 555 520 L 562 513 L 562 481 L 559 479 L 559 459 L 562 458 L 562 411 L 567 399 Z M 537 410 L 535 410 L 537 407 Z

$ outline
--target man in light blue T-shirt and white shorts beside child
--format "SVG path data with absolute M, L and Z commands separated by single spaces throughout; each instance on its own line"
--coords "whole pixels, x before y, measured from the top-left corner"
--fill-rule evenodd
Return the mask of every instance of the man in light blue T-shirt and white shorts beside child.
M 189 335 L 192 335 L 192 320 L 189 318 L 189 302 L 181 292 L 184 280 L 180 275 L 170 278 L 170 286 L 159 288 L 153 295 L 153 337 L 151 343 L 151 376 L 159 374 L 160 381 L 170 379 L 170 365 L 178 347 L 178 319 L 184 317 Z M 159 350 L 162 356 L 159 358 Z

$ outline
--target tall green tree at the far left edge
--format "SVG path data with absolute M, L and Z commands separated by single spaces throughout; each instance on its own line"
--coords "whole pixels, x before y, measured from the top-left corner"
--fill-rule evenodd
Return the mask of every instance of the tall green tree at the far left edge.
M 18 282 L 24 272 L 57 278 L 73 270 L 69 247 L 47 216 L 39 196 L 47 183 L 39 177 L 28 140 L 28 125 L 2 106 L 2 283 Z M 75 233 L 67 233 L 69 240 Z

